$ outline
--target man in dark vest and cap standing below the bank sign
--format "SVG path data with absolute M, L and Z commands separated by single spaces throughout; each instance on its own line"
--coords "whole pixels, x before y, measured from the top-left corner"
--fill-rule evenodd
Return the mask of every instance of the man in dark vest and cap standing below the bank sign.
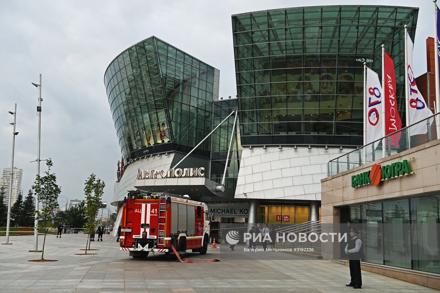
M 347 246 L 345 246 L 345 254 L 348 255 L 348 262 L 350 264 L 350 284 L 345 286 L 353 287 L 354 289 L 360 289 L 362 287 L 362 276 L 360 274 L 360 259 L 365 259 L 365 254 L 362 248 L 362 239 L 357 235 L 359 231 L 352 227 L 350 230 L 350 240 L 348 240 Z

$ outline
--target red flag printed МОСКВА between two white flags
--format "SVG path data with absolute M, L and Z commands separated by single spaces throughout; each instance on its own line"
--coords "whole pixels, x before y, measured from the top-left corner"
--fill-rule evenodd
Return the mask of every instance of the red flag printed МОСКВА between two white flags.
M 389 135 L 402 128 L 402 121 L 400 121 L 399 112 L 397 111 L 396 73 L 394 72 L 394 62 L 392 62 L 391 57 L 386 51 L 384 62 L 385 87 L 383 91 L 385 93 L 385 135 Z M 400 135 L 401 133 L 399 132 L 390 136 L 392 147 L 399 147 Z

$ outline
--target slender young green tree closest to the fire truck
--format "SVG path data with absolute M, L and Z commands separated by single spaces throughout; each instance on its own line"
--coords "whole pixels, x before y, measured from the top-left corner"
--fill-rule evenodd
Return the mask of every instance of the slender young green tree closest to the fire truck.
M 90 249 L 90 234 L 94 234 L 96 228 L 96 216 L 99 212 L 99 202 L 101 201 L 106 184 L 101 179 L 97 179 L 95 174 L 91 174 L 84 183 L 85 204 L 84 213 L 87 216 L 87 223 L 84 225 L 84 233 L 87 233 L 87 243 L 85 253 L 87 254 L 87 246 Z

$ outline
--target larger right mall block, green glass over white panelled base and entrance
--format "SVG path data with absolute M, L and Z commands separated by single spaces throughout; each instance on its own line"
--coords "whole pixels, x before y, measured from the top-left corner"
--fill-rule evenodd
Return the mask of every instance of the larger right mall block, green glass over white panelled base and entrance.
M 418 8 L 296 7 L 232 15 L 242 156 L 235 199 L 249 222 L 320 219 L 326 163 L 363 145 L 363 63 L 396 67 L 404 119 L 404 25 Z

